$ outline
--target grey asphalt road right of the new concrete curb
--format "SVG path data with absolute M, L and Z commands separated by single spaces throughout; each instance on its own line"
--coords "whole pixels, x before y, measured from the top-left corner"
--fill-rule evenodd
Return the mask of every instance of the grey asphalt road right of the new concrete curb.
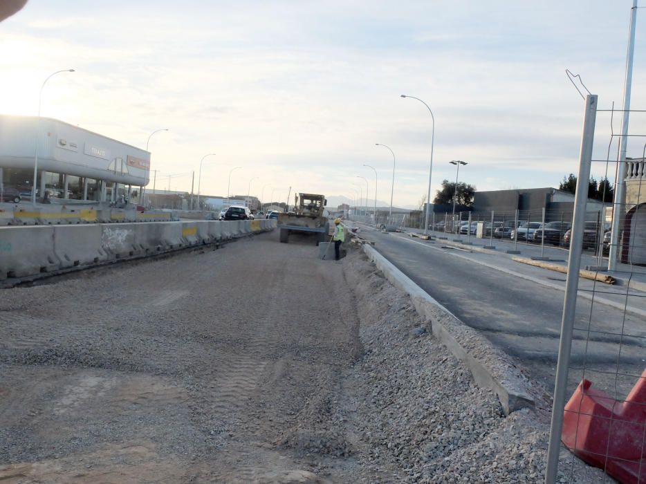
M 530 378 L 553 390 L 563 290 L 467 261 L 461 257 L 463 252 L 442 248 L 440 241 L 421 242 L 404 234 L 373 230 L 362 230 L 362 236 L 374 241 L 380 254 L 461 321 L 517 357 Z M 545 272 L 545 279 L 564 286 L 564 274 Z M 625 331 L 640 326 L 640 317 L 603 304 L 592 306 L 579 297 L 569 388 L 573 390 L 585 375 L 595 387 L 623 398 L 645 366 L 643 332 Z M 622 328 L 635 336 L 611 334 L 622 333 Z

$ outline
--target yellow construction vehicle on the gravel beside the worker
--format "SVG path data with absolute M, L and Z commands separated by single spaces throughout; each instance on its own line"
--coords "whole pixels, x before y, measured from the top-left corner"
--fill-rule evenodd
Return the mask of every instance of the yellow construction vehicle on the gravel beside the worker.
M 294 209 L 278 214 L 280 241 L 287 243 L 289 234 L 303 233 L 316 236 L 316 245 L 326 242 L 329 237 L 330 223 L 323 211 L 327 201 L 323 195 L 296 194 Z

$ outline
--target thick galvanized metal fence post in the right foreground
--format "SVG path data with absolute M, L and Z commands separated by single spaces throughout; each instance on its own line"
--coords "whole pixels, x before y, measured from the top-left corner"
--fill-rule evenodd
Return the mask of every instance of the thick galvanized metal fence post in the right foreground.
M 585 221 L 585 206 L 588 197 L 588 180 L 590 179 L 590 165 L 592 161 L 592 145 L 594 141 L 594 126 L 597 113 L 597 96 L 589 94 L 585 97 L 585 115 L 583 120 L 583 134 L 579 155 L 579 176 L 574 201 L 574 217 L 570 232 L 570 254 L 568 259 L 568 272 L 565 282 L 565 299 L 563 303 L 563 317 L 561 321 L 561 339 L 559 355 L 556 365 L 556 382 L 554 387 L 554 400 L 552 406 L 552 421 L 550 425 L 550 440 L 547 451 L 547 470 L 545 483 L 556 482 L 559 465 L 559 452 L 561 447 L 561 432 L 563 430 L 563 411 L 567 391 L 567 375 L 570 366 L 570 353 L 572 349 L 572 333 L 576 310 L 576 299 L 579 286 L 579 270 L 581 266 L 581 252 L 583 244 L 583 228 Z

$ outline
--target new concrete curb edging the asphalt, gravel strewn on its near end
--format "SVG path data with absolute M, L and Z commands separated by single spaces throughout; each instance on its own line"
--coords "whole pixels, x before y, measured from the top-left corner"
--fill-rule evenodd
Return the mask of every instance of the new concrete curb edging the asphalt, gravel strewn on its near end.
M 506 415 L 535 406 L 526 378 L 507 362 L 505 353 L 457 319 L 370 245 L 364 244 L 363 250 L 388 281 L 411 297 L 418 314 L 430 322 L 433 335 L 466 364 L 474 381 L 496 393 Z

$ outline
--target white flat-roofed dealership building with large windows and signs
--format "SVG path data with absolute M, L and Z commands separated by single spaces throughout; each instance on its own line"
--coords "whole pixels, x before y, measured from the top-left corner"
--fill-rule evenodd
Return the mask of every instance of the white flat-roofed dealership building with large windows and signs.
M 120 201 L 150 179 L 150 153 L 52 118 L 0 115 L 0 201 Z

